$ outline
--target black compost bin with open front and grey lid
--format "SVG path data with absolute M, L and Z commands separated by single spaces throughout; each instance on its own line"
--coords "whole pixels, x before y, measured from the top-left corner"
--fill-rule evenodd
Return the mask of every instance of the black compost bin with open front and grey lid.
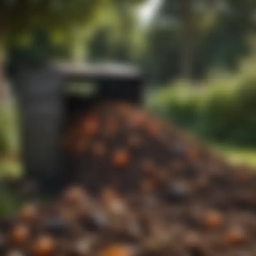
M 142 73 L 126 64 L 58 62 L 20 70 L 22 156 L 29 178 L 44 190 L 65 182 L 60 139 L 66 121 L 103 100 L 142 103 Z

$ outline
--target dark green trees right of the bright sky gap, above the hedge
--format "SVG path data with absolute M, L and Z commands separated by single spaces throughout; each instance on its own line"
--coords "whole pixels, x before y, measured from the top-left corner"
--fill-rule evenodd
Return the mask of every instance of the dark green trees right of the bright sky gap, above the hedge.
M 255 33 L 255 1 L 191 2 L 189 44 L 184 32 L 187 20 L 182 12 L 184 1 L 164 0 L 149 30 L 144 63 L 150 79 L 156 83 L 166 83 L 182 75 L 181 58 L 188 45 L 194 79 L 204 78 L 215 68 L 237 70 L 241 57 L 250 53 L 247 36 Z

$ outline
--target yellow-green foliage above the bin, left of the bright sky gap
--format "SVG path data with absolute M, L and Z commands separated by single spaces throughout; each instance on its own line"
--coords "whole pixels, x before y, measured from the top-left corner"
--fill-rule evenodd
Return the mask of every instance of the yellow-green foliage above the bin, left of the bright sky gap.
M 9 13 L 6 16 L 9 63 L 11 66 L 21 61 L 41 63 L 49 57 L 130 60 L 134 52 L 142 52 L 135 42 L 140 40 L 141 33 L 134 10 L 143 1 L 14 0 L 11 7 L 2 4 Z M 0 15 L 4 9 L 0 3 Z

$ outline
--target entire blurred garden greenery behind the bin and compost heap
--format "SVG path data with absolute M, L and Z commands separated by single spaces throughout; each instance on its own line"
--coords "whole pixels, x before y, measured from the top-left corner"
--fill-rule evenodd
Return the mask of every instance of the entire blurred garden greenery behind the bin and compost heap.
M 2 63 L 50 57 L 139 65 L 150 111 L 230 161 L 256 166 L 255 1 L 3 0 L 0 17 Z M 17 175 L 16 91 L 0 79 L 0 174 Z

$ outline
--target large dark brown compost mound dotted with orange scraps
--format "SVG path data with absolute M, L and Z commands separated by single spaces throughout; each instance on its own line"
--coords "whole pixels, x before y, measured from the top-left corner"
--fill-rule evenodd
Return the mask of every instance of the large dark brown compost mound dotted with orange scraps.
M 254 256 L 256 176 L 123 102 L 71 119 L 67 188 L 0 223 L 8 256 Z

